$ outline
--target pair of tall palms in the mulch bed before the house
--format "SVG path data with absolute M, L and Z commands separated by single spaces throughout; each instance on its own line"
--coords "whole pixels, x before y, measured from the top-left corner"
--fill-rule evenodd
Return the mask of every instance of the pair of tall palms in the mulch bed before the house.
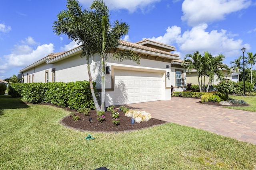
M 57 35 L 66 34 L 68 38 L 81 43 L 81 57 L 86 57 L 89 82 L 96 110 L 100 110 L 98 101 L 92 86 L 92 76 L 90 72 L 89 59 L 95 53 L 101 58 L 101 78 L 102 78 L 102 110 L 105 110 L 105 63 L 109 59 L 111 49 L 116 49 L 119 40 L 126 35 L 129 25 L 115 21 L 110 23 L 108 7 L 102 0 L 94 0 L 90 9 L 82 10 L 77 0 L 67 1 L 67 10 L 62 10 L 58 14 L 58 21 L 54 22 L 53 29 Z M 140 57 L 133 51 L 118 51 L 110 56 L 118 61 L 132 60 L 140 63 Z

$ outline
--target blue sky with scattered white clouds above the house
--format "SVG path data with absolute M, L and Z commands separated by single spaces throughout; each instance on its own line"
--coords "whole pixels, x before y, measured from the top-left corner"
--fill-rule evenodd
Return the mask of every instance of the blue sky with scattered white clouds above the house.
M 80 0 L 88 8 L 92 0 Z M 148 38 L 176 47 L 183 59 L 194 51 L 224 54 L 225 64 L 256 53 L 255 0 L 105 0 L 111 20 L 130 25 L 124 40 Z M 66 0 L 0 2 L 0 79 L 5 79 L 49 53 L 76 46 L 52 30 Z M 245 54 L 246 55 L 246 54 Z M 255 69 L 255 67 L 254 67 Z

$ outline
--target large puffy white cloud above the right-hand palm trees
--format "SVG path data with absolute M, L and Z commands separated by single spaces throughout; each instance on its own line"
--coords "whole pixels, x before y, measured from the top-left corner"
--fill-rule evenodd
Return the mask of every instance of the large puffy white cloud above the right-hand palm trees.
M 208 25 L 206 23 L 193 27 L 181 33 L 178 26 L 168 27 L 163 36 L 150 38 L 153 41 L 174 45 L 177 44 L 180 49 L 180 57 L 194 51 L 209 51 L 213 55 L 224 54 L 226 57 L 236 56 L 240 53 L 241 47 L 250 49 L 250 45 L 242 44 L 241 39 L 233 39 L 235 35 L 226 30 L 205 31 Z M 178 53 L 178 52 L 176 52 Z

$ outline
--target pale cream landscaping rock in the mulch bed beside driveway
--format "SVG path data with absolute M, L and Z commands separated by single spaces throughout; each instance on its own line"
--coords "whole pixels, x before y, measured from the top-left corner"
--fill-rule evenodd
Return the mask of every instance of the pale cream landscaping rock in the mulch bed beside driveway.
M 135 110 L 126 111 L 125 116 L 132 117 L 137 123 L 140 123 L 142 121 L 149 121 L 152 118 L 151 114 L 147 113 L 146 111 Z

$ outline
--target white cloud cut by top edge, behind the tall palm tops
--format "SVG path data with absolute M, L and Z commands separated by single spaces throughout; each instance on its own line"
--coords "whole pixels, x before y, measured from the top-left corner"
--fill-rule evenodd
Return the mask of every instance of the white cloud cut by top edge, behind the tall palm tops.
M 93 0 L 80 0 L 79 2 L 83 5 L 89 7 Z M 155 2 L 160 2 L 161 0 L 107 0 L 105 4 L 110 10 L 126 9 L 129 12 L 135 12 L 137 9 L 144 12 L 148 9 L 154 7 Z

